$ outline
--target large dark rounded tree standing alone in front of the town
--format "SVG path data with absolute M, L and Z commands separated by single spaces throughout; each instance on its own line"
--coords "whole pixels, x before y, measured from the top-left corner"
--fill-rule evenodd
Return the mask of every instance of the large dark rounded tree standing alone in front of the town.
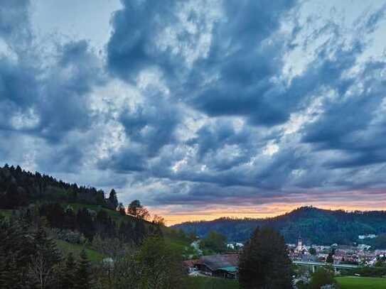
M 257 228 L 240 255 L 239 273 L 245 289 L 292 288 L 291 260 L 283 236 L 271 228 Z

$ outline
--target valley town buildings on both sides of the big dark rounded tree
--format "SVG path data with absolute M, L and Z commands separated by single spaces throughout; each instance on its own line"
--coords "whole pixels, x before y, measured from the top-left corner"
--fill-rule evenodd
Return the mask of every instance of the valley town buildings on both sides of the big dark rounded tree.
M 358 240 L 374 239 L 377 235 L 368 234 L 358 236 Z M 199 258 L 183 261 L 184 267 L 189 276 L 205 276 L 217 278 L 238 278 L 239 256 L 244 247 L 241 242 L 231 242 L 226 244 L 225 253 L 216 253 L 213 255 L 203 255 L 200 250 L 200 239 L 191 244 Z M 341 271 L 349 271 L 360 266 L 372 267 L 377 262 L 386 260 L 386 249 L 371 250 L 367 244 L 355 244 L 353 246 L 331 244 L 324 245 L 307 245 L 299 236 L 297 244 L 286 244 L 289 252 L 289 258 L 295 266 L 303 268 L 301 279 L 310 276 L 317 268 L 333 268 L 337 275 Z M 360 274 L 356 274 L 360 276 Z M 295 279 L 299 280 L 299 279 Z

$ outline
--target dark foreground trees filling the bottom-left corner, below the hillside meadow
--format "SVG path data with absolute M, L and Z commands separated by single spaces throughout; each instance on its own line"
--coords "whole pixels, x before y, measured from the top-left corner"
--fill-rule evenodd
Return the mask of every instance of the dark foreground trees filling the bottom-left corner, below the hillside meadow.
M 45 220 L 18 212 L 0 217 L 0 288 L 147 289 L 185 288 L 181 252 L 162 237 L 150 236 L 141 246 L 124 246 L 114 259 L 90 263 L 61 253 Z

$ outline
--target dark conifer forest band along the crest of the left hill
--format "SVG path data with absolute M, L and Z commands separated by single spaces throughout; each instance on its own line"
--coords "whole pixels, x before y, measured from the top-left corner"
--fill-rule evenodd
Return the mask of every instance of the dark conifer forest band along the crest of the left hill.
M 110 209 L 118 206 L 116 198 L 105 198 L 104 191 L 95 187 L 70 184 L 49 175 L 27 172 L 19 166 L 4 165 L 0 168 L 0 209 L 24 207 L 36 200 L 79 202 Z

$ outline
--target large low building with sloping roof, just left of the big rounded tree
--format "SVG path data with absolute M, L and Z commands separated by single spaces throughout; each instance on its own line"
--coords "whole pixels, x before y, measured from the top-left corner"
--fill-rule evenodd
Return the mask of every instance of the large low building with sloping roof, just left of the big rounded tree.
M 238 278 L 238 266 L 238 254 L 202 256 L 195 263 L 195 267 L 205 275 L 232 279 Z

